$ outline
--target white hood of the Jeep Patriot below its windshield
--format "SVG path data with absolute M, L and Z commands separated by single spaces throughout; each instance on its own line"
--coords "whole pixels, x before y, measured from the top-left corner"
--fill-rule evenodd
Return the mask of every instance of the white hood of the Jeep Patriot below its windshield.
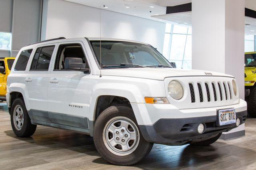
M 164 80 L 166 77 L 174 76 L 228 76 L 228 74 L 204 71 L 204 70 L 186 70 L 177 68 L 112 68 L 102 69 L 102 75 L 106 76 L 124 76 L 136 78 L 148 78 L 154 80 Z

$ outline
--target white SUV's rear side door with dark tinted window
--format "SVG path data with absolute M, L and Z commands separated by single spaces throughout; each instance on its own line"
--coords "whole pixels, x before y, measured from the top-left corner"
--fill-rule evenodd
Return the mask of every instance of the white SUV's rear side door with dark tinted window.
M 57 44 L 41 45 L 35 48 L 29 63 L 25 83 L 30 103 L 30 118 L 50 122 L 47 113 L 47 85 L 50 79 L 50 64 Z

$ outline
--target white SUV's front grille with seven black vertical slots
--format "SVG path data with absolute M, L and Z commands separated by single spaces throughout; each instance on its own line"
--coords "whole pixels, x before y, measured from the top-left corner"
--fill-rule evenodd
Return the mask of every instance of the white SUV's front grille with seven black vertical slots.
M 229 81 L 189 83 L 189 88 L 192 103 L 232 100 Z

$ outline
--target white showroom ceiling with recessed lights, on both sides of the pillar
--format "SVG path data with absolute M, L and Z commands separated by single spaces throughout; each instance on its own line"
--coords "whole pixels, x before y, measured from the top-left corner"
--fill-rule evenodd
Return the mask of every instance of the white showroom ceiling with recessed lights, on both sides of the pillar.
M 192 2 L 192 0 L 66 0 L 77 4 L 92 6 L 128 14 L 132 16 L 142 17 L 149 20 L 178 23 L 181 25 L 191 26 L 191 12 L 181 12 L 176 14 L 166 14 L 166 6 L 176 6 Z M 104 8 L 105 7 L 107 8 Z M 256 10 L 256 0 L 245 0 L 246 8 Z M 126 8 L 129 7 L 129 8 Z M 150 8 L 154 7 L 154 8 Z M 151 12 L 150 12 L 151 11 Z M 246 34 L 256 35 L 256 19 L 246 17 L 245 26 Z M 254 32 L 250 30 L 255 30 Z

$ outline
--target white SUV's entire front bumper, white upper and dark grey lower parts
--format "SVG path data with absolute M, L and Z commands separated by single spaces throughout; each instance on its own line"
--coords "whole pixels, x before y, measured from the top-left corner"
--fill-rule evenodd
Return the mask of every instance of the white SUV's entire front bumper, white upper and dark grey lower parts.
M 247 105 L 244 100 L 240 100 L 239 104 L 235 105 L 199 109 L 177 109 L 171 105 L 167 106 L 168 104 L 131 105 L 144 139 L 165 145 L 185 145 L 191 141 L 202 141 L 236 128 L 236 123 L 217 126 L 218 109 L 235 108 L 240 124 L 246 121 L 247 115 Z M 137 111 L 140 111 L 139 115 Z M 205 125 L 202 134 L 197 132 L 200 123 Z

